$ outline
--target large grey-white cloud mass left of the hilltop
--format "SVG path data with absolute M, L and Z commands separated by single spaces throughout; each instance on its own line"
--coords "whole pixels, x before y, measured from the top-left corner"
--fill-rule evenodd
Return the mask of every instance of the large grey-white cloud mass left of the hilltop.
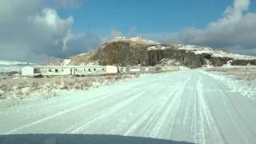
M 86 35 L 77 38 L 72 34 L 73 24 L 72 16 L 61 18 L 45 1 L 2 0 L 0 59 L 43 62 L 86 52 L 101 43 L 95 34 L 91 43 L 83 38 Z

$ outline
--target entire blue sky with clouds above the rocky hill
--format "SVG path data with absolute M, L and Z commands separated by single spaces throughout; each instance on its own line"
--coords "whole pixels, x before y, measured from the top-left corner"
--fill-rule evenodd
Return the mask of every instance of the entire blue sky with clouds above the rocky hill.
M 256 0 L 1 0 L 0 59 L 46 62 L 116 36 L 256 55 Z

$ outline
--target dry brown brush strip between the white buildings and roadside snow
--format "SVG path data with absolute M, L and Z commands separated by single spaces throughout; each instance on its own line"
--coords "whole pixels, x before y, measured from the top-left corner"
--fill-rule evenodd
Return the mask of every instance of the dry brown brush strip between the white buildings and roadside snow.
M 6 78 L 0 81 L 1 96 L 16 94 L 18 98 L 26 98 L 35 92 L 42 93 L 43 97 L 52 97 L 55 89 L 60 90 L 88 90 L 111 84 L 126 78 L 135 78 L 138 74 L 107 74 L 86 75 L 86 77 L 56 76 L 50 78 Z M 57 94 L 56 94 L 57 95 Z

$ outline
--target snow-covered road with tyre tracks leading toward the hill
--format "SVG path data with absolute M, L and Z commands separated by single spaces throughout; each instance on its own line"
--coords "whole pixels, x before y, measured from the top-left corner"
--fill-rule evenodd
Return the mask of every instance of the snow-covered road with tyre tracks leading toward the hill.
M 200 70 L 148 74 L 0 110 L 0 134 L 114 134 L 256 143 L 256 101 Z

